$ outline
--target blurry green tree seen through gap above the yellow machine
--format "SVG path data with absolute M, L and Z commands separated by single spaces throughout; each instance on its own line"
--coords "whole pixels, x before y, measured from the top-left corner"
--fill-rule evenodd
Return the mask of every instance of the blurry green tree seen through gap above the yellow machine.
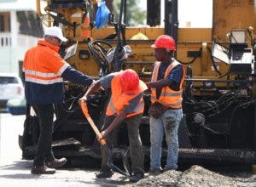
M 146 0 L 145 1 L 146 4 Z M 113 0 L 113 14 L 114 20 L 119 21 L 121 0 Z M 141 9 L 138 4 L 139 0 L 126 0 L 126 26 L 145 25 L 146 10 Z

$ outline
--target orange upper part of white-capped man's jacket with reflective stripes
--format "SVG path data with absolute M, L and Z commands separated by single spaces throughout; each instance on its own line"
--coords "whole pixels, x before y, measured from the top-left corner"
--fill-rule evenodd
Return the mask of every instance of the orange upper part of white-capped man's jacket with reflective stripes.
M 23 64 L 25 81 L 41 85 L 63 82 L 61 74 L 70 65 L 61 59 L 58 50 L 59 47 L 44 40 L 39 40 L 37 47 L 29 49 Z

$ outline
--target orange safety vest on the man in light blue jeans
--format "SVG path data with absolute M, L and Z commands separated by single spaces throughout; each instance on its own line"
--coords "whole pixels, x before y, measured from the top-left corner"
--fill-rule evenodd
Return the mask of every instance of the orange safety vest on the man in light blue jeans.
M 172 71 L 172 69 L 174 67 L 176 67 L 177 65 L 180 65 L 180 63 L 177 62 L 177 60 L 173 61 L 171 65 L 169 65 L 166 68 L 166 73 L 165 73 L 165 78 L 169 75 L 169 72 Z M 156 82 L 157 77 L 158 77 L 158 72 L 159 72 L 159 67 L 160 67 L 160 62 L 155 62 L 154 63 L 154 71 L 151 77 L 151 82 Z M 184 68 L 183 68 L 183 72 L 184 72 Z M 156 89 L 155 88 L 151 88 L 151 102 L 159 102 L 161 105 L 164 105 L 166 107 L 170 107 L 173 109 L 178 109 L 182 107 L 182 94 L 183 94 L 183 82 L 184 82 L 184 73 L 183 73 L 183 77 L 181 79 L 180 82 L 180 86 L 179 86 L 179 90 L 175 91 L 172 90 L 170 87 L 166 86 L 164 88 L 161 89 L 161 94 L 160 94 L 160 98 L 157 99 L 156 98 Z

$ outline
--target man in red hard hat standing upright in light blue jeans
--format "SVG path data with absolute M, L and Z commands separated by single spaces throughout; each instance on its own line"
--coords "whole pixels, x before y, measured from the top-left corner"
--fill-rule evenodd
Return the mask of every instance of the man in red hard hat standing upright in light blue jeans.
M 183 65 L 174 59 L 175 40 L 167 35 L 158 37 L 154 44 L 156 62 L 151 82 L 150 114 L 150 171 L 162 172 L 160 165 L 162 140 L 166 134 L 167 159 L 164 170 L 177 169 L 177 130 L 183 116 L 182 93 L 184 81 Z

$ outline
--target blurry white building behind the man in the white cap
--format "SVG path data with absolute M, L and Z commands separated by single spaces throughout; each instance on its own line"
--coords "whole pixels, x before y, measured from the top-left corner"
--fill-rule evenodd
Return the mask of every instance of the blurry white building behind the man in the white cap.
M 26 49 L 43 36 L 35 0 L 0 0 L 0 72 L 21 77 Z

